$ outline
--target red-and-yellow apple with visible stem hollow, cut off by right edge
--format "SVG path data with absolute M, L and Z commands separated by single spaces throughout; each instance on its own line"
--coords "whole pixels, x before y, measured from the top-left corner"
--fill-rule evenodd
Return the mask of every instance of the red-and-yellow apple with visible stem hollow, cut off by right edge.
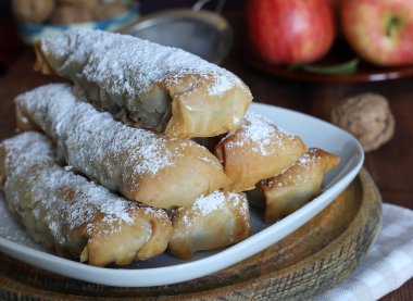
M 341 27 L 353 50 L 383 66 L 413 63 L 412 0 L 345 0 Z

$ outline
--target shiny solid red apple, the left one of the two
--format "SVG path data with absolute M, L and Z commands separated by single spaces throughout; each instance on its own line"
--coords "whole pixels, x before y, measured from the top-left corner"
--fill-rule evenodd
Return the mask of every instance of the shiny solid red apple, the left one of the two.
M 270 63 L 309 63 L 324 57 L 335 37 L 328 0 L 249 0 L 249 40 Z

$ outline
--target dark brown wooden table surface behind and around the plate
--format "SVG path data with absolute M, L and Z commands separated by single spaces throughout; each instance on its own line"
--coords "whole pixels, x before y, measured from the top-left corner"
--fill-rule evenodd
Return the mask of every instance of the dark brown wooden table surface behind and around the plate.
M 367 84 L 310 84 L 275 78 L 247 66 L 239 47 L 242 36 L 237 33 L 239 32 L 236 30 L 235 47 L 224 66 L 245 80 L 254 96 L 254 101 L 292 109 L 328 121 L 330 109 L 345 97 L 367 91 L 387 97 L 396 117 L 396 134 L 389 143 L 366 154 L 364 166 L 376 181 L 384 202 L 413 209 L 413 201 L 410 199 L 413 195 L 413 79 Z M 13 98 L 33 87 L 55 80 L 34 73 L 33 63 L 34 53 L 28 49 L 5 76 L 0 78 L 0 139 L 14 133 Z M 413 279 L 384 300 L 413 300 Z

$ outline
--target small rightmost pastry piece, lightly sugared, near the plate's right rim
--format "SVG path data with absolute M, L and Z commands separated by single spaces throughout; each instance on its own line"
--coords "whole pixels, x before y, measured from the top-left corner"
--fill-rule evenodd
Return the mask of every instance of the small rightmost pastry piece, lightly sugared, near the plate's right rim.
M 322 192 L 324 176 L 340 158 L 310 148 L 295 164 L 256 185 L 255 196 L 265 202 L 265 222 L 291 214 Z M 258 192 L 258 193 L 256 193 Z

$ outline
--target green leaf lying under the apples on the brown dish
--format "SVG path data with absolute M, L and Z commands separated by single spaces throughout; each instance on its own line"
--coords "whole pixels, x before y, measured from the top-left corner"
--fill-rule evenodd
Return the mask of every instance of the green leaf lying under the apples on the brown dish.
M 291 71 L 304 71 L 317 74 L 352 74 L 358 71 L 360 60 L 352 59 L 351 61 L 336 64 L 336 65 L 311 65 L 311 64 L 296 64 L 289 65 Z

